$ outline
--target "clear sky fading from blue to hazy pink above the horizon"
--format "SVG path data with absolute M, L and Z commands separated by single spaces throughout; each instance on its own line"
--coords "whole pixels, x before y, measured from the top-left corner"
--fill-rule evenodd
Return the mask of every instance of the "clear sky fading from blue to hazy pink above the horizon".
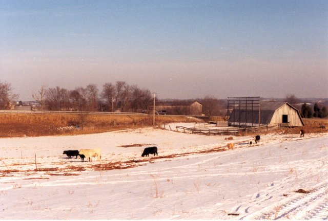
M 159 99 L 328 97 L 328 1 L 0 0 L 0 82 Z

